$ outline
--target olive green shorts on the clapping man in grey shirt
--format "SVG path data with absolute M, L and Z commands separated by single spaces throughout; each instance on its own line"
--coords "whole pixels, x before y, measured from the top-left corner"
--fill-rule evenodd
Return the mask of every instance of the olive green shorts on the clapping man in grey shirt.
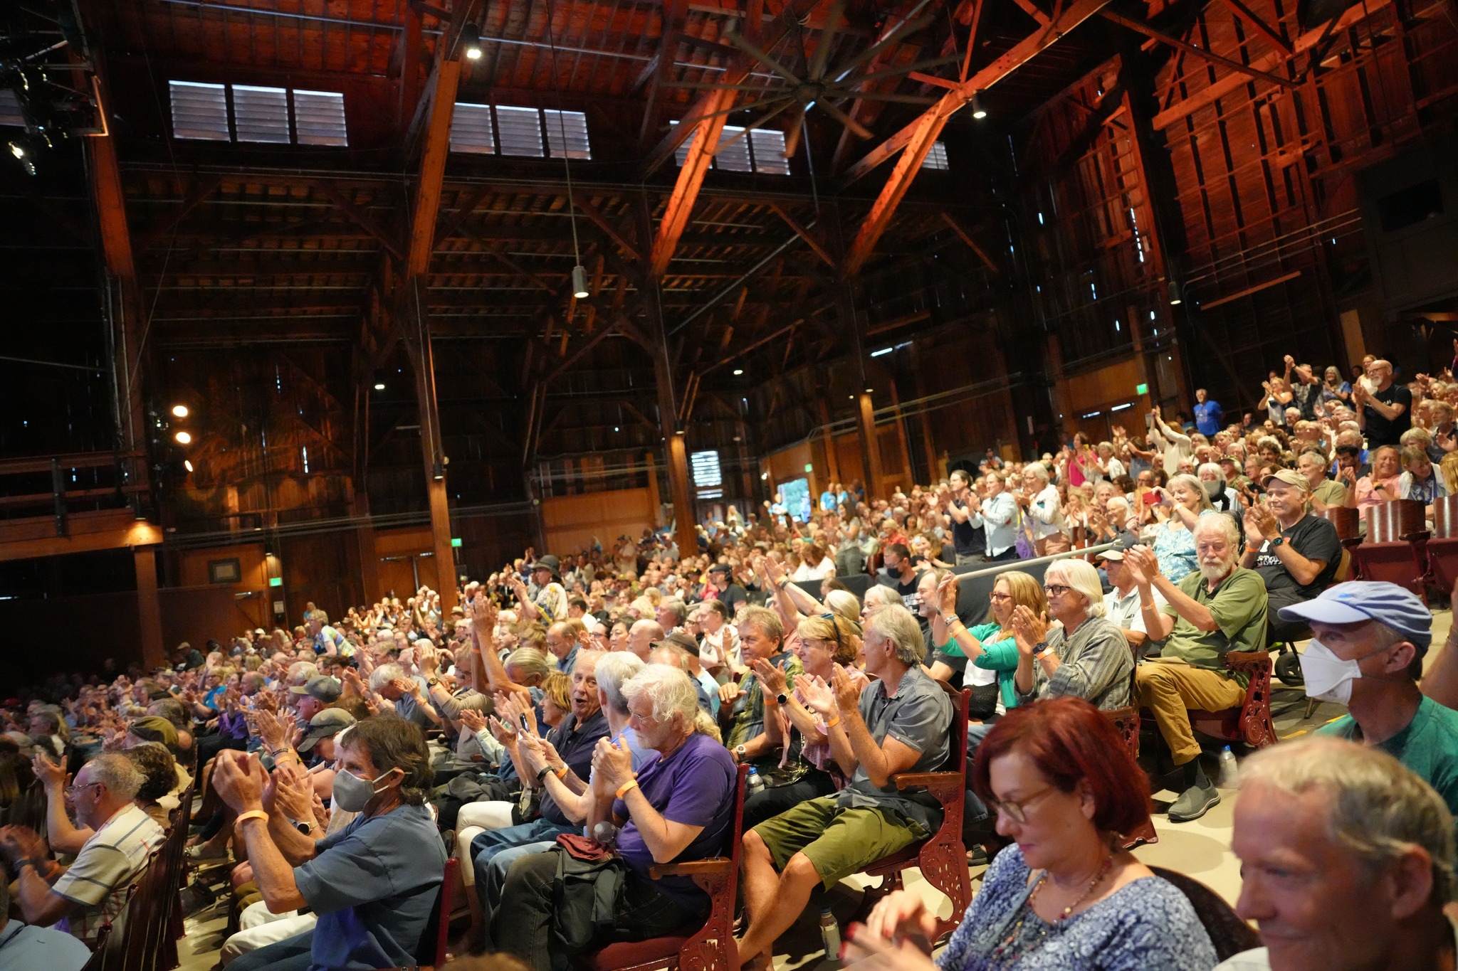
M 809 799 L 754 827 L 770 849 L 774 868 L 803 853 L 825 889 L 929 834 L 886 809 L 843 809 L 835 796 Z

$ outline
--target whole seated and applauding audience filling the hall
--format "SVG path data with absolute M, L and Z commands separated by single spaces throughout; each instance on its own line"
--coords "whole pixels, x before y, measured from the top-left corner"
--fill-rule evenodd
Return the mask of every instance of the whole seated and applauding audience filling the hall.
M 292 630 L 28 689 L 0 706 L 0 967 L 80 968 L 190 825 L 188 904 L 239 914 L 229 968 L 418 964 L 449 856 L 468 945 L 561 968 L 703 924 L 704 891 L 655 868 L 726 855 L 741 766 L 738 955 L 770 967 L 816 887 L 940 827 L 897 777 L 965 751 L 964 841 L 991 862 L 937 967 L 1209 971 L 1190 901 L 1127 852 L 1150 786 L 1105 713 L 1152 713 L 1181 780 L 1165 815 L 1200 818 L 1220 792 L 1190 712 L 1242 705 L 1228 655 L 1298 636 L 1308 694 L 1349 713 L 1242 764 L 1238 913 L 1267 946 L 1220 967 L 1452 967 L 1458 648 L 1423 678 L 1432 613 L 1344 581 L 1318 514 L 1451 494 L 1458 383 L 1286 358 L 1266 392 L 1260 421 L 1201 390 L 1193 427 L 1156 408 L 1143 437 L 989 450 L 908 492 L 831 483 L 803 520 L 729 507 L 694 549 L 526 550 L 452 610 L 429 588 L 308 604 Z M 970 689 L 965 731 L 943 686 Z M 892 894 L 847 956 L 930 967 L 933 927 Z

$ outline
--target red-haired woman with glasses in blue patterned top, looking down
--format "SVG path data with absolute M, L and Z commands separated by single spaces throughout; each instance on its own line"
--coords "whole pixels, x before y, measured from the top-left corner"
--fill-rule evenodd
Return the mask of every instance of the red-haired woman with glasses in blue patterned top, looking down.
M 1007 712 L 977 750 L 972 789 L 1015 840 L 936 962 L 932 911 L 898 891 L 851 927 L 847 956 L 886 971 L 1210 971 L 1190 901 L 1120 850 L 1149 821 L 1145 773 L 1077 697 Z

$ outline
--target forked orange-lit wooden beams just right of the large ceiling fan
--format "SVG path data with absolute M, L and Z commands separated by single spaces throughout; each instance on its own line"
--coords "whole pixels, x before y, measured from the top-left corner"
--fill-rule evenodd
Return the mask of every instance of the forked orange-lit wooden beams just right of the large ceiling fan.
M 866 215 L 865 223 L 860 224 L 856 239 L 846 252 L 846 259 L 840 266 L 843 277 L 851 277 L 860 272 L 862 266 L 866 265 L 866 261 L 870 258 L 872 250 L 875 250 L 882 233 L 885 233 L 886 227 L 891 224 L 891 218 L 895 215 L 897 207 L 901 204 L 901 199 L 905 198 L 907 191 L 911 188 L 911 182 L 920 173 L 921 163 L 926 160 L 927 153 L 932 150 L 932 146 L 936 143 L 937 135 L 942 134 L 942 128 L 946 127 L 951 116 L 971 102 L 977 92 L 991 87 L 1042 51 L 1057 44 L 1059 39 L 1069 31 L 1088 20 L 1108 3 L 1110 0 L 1075 0 L 1075 3 L 1064 7 L 1061 13 L 1059 13 L 1056 20 L 1024 38 L 1021 42 L 1013 45 L 1010 51 L 968 77 L 958 86 L 956 90 L 951 90 L 943 95 L 936 105 L 929 108 L 926 114 L 921 115 L 921 118 L 907 125 L 907 128 L 903 128 L 901 132 L 888 138 L 881 147 L 875 148 L 870 154 L 851 166 L 851 172 L 847 173 L 847 179 L 856 178 L 857 170 L 860 175 L 865 175 L 881 162 L 885 162 L 897 151 L 901 151 L 901 157 L 897 160 L 897 166 L 891 172 L 891 178 L 886 179 L 886 185 L 881 189 L 881 195 L 876 197 L 875 204 L 870 207 L 870 213 Z M 900 144 L 897 144 L 898 140 L 901 140 Z

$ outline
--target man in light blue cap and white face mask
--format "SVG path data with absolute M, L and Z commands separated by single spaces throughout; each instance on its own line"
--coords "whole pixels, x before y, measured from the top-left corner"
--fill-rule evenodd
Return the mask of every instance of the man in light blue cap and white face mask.
M 1381 748 L 1458 812 L 1458 712 L 1417 687 L 1433 636 L 1423 601 L 1397 584 L 1353 581 L 1280 616 L 1311 625 L 1301 658 L 1306 694 L 1350 712 L 1318 732 Z

